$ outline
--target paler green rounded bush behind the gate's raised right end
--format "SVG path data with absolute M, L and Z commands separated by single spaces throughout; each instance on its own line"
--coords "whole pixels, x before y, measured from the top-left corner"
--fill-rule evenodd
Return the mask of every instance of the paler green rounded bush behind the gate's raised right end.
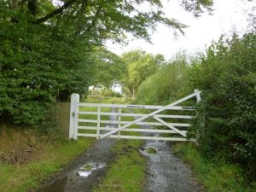
M 140 104 L 166 104 L 181 95 L 188 65 L 183 55 L 160 67 L 160 70 L 143 81 L 137 92 Z

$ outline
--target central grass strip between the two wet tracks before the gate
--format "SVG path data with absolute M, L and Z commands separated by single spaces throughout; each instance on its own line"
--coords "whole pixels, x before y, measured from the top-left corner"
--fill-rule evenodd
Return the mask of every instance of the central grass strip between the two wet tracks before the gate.
M 113 148 L 117 154 L 102 183 L 94 192 L 140 192 L 146 170 L 146 160 L 139 153 L 139 140 L 121 140 Z

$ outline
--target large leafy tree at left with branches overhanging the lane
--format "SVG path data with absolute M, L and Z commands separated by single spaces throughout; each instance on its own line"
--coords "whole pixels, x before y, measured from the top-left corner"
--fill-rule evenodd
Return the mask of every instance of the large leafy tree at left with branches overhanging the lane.
M 200 8 L 206 2 L 195 1 Z M 155 0 L 0 1 L 1 119 L 40 125 L 46 103 L 86 94 L 96 69 L 92 51 L 108 38 L 123 42 L 130 32 L 149 41 L 157 23 L 183 33 L 185 25 L 162 9 Z

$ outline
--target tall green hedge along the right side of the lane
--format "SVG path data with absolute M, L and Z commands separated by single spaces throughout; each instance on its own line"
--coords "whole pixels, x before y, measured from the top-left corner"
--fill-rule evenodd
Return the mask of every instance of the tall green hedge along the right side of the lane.
M 182 58 L 182 57 L 181 57 Z M 138 89 L 137 101 L 172 102 L 202 91 L 199 116 L 189 130 L 198 135 L 202 154 L 240 164 L 251 179 L 256 169 L 256 35 L 220 38 L 200 61 L 172 61 Z

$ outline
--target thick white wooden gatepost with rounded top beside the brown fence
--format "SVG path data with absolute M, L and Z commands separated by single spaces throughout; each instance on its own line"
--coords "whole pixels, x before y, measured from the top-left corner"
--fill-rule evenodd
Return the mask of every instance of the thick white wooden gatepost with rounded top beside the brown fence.
M 78 139 L 79 125 L 79 94 L 73 93 L 70 102 L 69 140 Z

